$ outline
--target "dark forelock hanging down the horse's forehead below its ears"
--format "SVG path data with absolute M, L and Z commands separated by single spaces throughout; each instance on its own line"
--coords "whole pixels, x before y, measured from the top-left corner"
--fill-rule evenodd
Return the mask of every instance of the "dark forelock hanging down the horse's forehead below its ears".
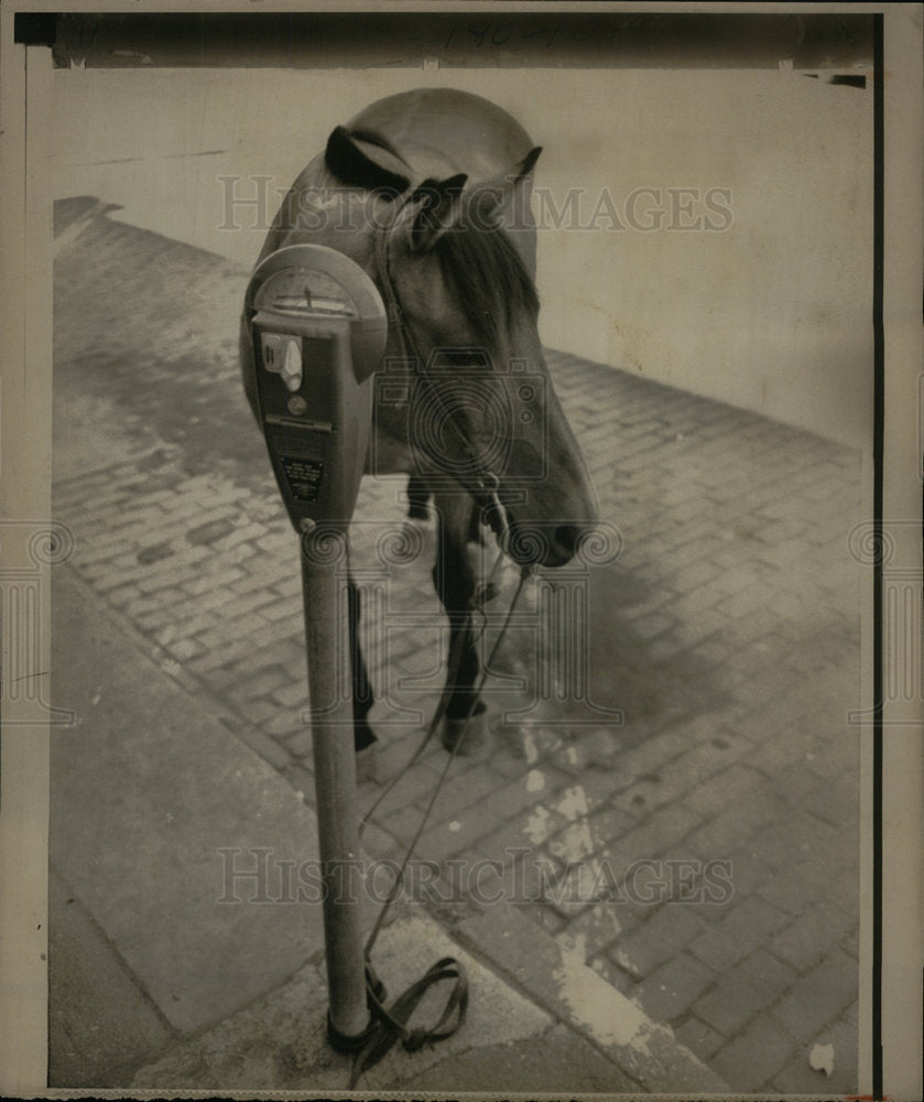
M 488 347 L 518 315 L 535 320 L 535 283 L 500 227 L 474 225 L 464 217 L 438 238 L 434 251 L 459 306 Z

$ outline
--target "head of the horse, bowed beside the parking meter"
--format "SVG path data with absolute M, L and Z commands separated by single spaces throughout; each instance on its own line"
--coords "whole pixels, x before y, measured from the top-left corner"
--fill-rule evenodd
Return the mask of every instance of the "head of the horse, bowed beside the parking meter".
M 346 152 L 345 131 L 336 141 L 336 160 L 356 169 L 363 150 Z M 372 256 L 357 259 L 389 309 L 377 428 L 404 437 L 416 469 L 471 494 L 511 558 L 558 566 L 597 506 L 537 328 L 529 187 L 539 153 L 471 187 L 464 172 L 404 191 L 382 180 Z M 405 396 L 399 415 L 389 393 Z

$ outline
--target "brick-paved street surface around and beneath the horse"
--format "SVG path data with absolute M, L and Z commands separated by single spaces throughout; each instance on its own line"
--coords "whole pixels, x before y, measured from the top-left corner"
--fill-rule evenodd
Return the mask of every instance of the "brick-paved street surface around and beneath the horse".
M 237 375 L 247 274 L 99 215 L 76 233 L 88 206 L 56 212 L 67 569 L 312 802 L 297 543 Z M 529 583 L 490 753 L 454 761 L 417 874 L 447 922 L 503 888 L 733 1089 L 852 1091 L 859 453 L 548 359 L 621 544 Z M 363 806 L 420 741 L 445 650 L 403 489 L 366 479 L 355 526 L 381 736 Z M 514 583 L 506 568 L 489 644 Z M 401 779 L 372 855 L 403 851 L 444 761 L 428 749 Z M 828 1044 L 826 1079 L 808 1057 Z

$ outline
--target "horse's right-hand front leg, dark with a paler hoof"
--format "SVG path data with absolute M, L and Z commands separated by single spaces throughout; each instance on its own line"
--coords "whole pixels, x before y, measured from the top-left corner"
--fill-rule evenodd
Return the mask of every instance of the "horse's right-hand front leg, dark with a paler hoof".
M 458 754 L 475 754 L 487 741 L 485 702 L 478 699 L 476 683 L 481 672 L 471 627 L 471 598 L 477 575 L 468 557 L 475 504 L 465 494 L 436 494 L 436 565 L 433 581 L 449 618 L 450 661 L 458 655 L 457 668 L 447 671 L 450 692 L 443 721 L 443 745 Z

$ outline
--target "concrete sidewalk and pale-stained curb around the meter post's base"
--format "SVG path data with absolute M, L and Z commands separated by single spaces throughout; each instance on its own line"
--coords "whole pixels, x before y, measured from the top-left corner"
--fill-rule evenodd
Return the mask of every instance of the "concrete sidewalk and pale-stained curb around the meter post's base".
M 438 1046 L 407 1054 L 396 1045 L 362 1076 L 358 1091 L 468 1092 L 490 1084 L 504 1094 L 731 1093 L 670 1029 L 591 970 L 561 958 L 554 940 L 529 919 L 513 908 L 492 909 L 490 919 L 489 926 L 479 925 L 481 918 L 467 920 L 464 932 L 447 933 L 413 907 L 383 930 L 376 964 L 388 977 L 389 997 L 434 959 L 453 955 L 471 982 L 469 1017 Z M 459 941 L 468 949 L 459 949 Z M 497 949 L 512 944 L 519 959 L 508 953 L 500 960 Z M 559 964 L 550 969 L 556 955 Z M 437 1001 L 424 1003 L 420 1020 L 438 1015 Z M 131 1087 L 339 1093 L 349 1081 L 350 1059 L 327 1045 L 325 1008 L 324 968 L 306 965 L 250 1006 L 167 1048 L 134 1074 Z M 550 1048 L 557 1052 L 554 1070 L 541 1066 L 540 1054 Z M 518 1055 L 525 1059 L 517 1061 Z M 492 1066 L 497 1078 L 486 1079 Z

